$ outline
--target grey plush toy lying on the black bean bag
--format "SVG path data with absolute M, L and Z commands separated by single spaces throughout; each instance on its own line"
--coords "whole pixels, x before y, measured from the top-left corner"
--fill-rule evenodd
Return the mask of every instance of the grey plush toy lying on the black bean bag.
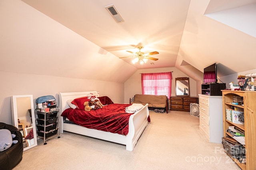
M 8 129 L 0 129 L 0 152 L 10 148 L 13 143 L 18 143 L 18 140 L 12 140 L 15 136 Z

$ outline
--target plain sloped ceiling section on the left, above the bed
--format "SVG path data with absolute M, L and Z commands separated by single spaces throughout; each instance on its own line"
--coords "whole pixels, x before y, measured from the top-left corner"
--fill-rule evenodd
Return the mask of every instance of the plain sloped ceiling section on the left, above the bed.
M 124 82 L 136 68 L 22 1 L 0 1 L 0 70 Z

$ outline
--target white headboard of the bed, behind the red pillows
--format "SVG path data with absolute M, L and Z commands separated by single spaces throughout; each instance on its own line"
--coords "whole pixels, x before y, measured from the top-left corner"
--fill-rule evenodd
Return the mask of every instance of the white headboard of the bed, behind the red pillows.
M 68 109 L 69 106 L 67 104 L 68 100 L 74 100 L 78 97 L 86 97 L 92 96 L 92 94 L 98 93 L 97 91 L 83 91 L 83 92 L 70 92 L 70 93 L 60 93 L 60 115 L 65 110 Z

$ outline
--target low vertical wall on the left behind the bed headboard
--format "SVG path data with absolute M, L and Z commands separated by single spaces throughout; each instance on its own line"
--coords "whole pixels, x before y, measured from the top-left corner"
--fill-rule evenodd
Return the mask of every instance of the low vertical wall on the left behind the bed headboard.
M 59 92 L 98 91 L 114 103 L 124 103 L 124 83 L 74 79 L 48 75 L 0 71 L 0 122 L 12 124 L 11 96 L 33 95 L 34 107 L 40 96 L 53 95 L 59 103 Z

